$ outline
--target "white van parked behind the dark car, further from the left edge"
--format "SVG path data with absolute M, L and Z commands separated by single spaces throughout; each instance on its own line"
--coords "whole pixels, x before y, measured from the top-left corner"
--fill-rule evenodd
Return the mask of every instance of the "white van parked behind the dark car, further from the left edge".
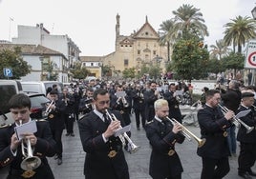
M 63 83 L 58 81 L 22 81 L 20 82 L 22 89 L 27 93 L 43 93 L 46 95 L 46 90 L 53 85 L 57 85 L 59 93 L 62 93 Z

